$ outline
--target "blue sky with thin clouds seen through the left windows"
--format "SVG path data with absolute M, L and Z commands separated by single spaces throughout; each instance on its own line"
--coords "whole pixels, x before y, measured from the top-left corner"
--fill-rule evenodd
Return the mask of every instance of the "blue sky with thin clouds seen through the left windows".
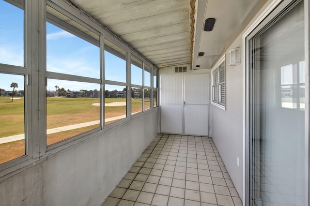
M 24 66 L 23 38 L 23 11 L 0 0 L 0 63 Z M 99 79 L 99 59 L 98 46 L 47 23 L 47 71 Z M 106 79 L 124 82 L 126 78 L 125 66 L 126 63 L 123 59 L 105 52 Z M 132 84 L 140 85 L 141 69 L 133 68 L 132 74 Z M 23 89 L 23 76 L 0 74 L 0 88 L 12 90 L 10 88 L 12 82 L 18 83 L 18 90 Z M 148 84 L 150 84 L 149 82 Z M 70 90 L 99 90 L 97 84 L 47 80 L 47 90 L 55 90 L 56 85 Z M 114 90 L 119 87 L 107 85 L 105 89 Z

